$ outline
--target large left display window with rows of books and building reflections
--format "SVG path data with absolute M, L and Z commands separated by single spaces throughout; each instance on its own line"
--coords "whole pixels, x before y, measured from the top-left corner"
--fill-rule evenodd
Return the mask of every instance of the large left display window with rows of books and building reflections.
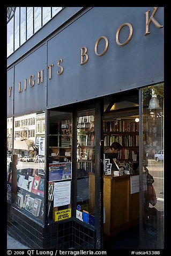
M 18 210 L 43 222 L 44 219 L 44 172 L 45 132 L 36 132 L 36 122 L 45 120 L 45 114 L 31 113 L 14 117 L 14 140 L 11 174 L 11 201 Z M 35 120 L 34 125 L 29 120 Z M 39 121 L 40 122 L 40 121 Z M 40 123 L 41 125 L 41 123 Z M 8 148 L 8 154 L 12 150 Z

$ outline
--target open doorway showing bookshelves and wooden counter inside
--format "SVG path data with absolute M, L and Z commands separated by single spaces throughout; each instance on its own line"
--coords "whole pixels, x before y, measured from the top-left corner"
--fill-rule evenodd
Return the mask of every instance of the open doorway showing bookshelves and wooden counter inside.
M 139 248 L 138 90 L 104 99 L 103 138 L 103 247 Z

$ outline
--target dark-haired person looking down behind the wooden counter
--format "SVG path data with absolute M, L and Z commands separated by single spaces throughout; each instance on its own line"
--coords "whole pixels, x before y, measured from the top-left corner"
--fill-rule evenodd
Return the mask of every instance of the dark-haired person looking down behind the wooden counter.
M 109 148 L 105 151 L 105 159 L 109 159 L 112 164 L 112 169 L 115 169 L 115 163 L 113 161 L 114 158 L 118 159 L 118 154 L 122 150 L 122 145 L 117 141 L 114 141 Z

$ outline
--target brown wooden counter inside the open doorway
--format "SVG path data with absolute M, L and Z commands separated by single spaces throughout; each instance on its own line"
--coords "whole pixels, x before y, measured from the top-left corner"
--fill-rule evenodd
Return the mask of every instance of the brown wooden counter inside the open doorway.
M 105 224 L 103 232 L 112 236 L 139 223 L 139 193 L 131 194 L 130 177 L 139 173 L 123 176 L 103 176 L 103 203 Z

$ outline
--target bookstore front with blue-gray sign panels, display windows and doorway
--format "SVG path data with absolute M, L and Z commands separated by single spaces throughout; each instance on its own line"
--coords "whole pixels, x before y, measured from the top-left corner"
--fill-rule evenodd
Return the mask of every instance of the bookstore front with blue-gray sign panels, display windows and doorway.
M 163 248 L 164 169 L 155 157 L 164 148 L 163 8 L 58 10 L 23 45 L 20 32 L 20 46 L 8 57 L 8 231 L 32 248 L 98 249 L 103 233 L 138 223 L 139 248 Z M 14 12 L 19 24 L 22 11 Z M 29 11 L 34 21 L 35 9 Z M 119 126 L 116 133 L 112 125 L 123 122 L 132 130 L 121 134 Z M 134 175 L 139 182 L 121 196 L 131 203 L 123 200 L 128 214 L 114 224 L 108 219 L 119 207 L 106 205 L 103 167 L 112 135 L 138 165 L 123 186 L 133 186 Z M 127 153 L 120 158 L 129 160 Z M 146 169 L 151 173 L 156 163 L 155 193 L 162 196 L 149 207 Z

